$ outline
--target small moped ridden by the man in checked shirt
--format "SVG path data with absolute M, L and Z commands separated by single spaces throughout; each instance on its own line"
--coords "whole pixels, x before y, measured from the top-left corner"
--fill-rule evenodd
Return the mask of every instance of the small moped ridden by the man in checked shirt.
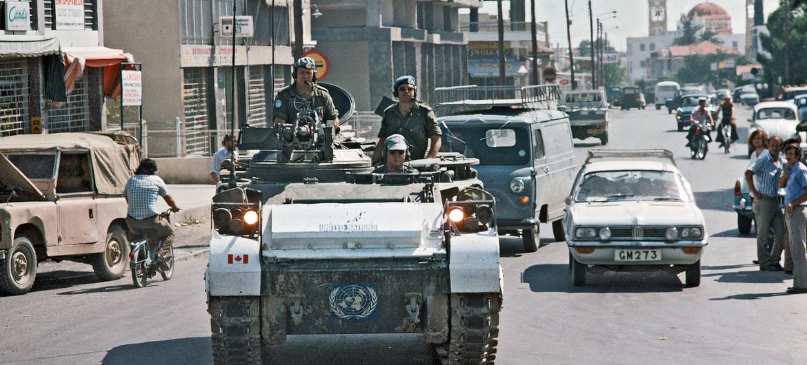
M 161 218 L 165 218 L 168 222 L 170 219 L 171 209 L 166 210 L 160 214 Z M 153 278 L 160 273 L 162 280 L 171 280 L 174 276 L 174 247 L 170 248 L 170 259 L 165 262 L 158 262 L 157 254 L 160 251 L 161 242 L 148 243 L 148 238 L 140 238 L 133 241 L 132 249 L 129 251 L 129 269 L 132 272 L 132 284 L 135 288 L 142 288 L 145 286 L 148 279 Z M 159 260 L 161 261 L 161 260 Z

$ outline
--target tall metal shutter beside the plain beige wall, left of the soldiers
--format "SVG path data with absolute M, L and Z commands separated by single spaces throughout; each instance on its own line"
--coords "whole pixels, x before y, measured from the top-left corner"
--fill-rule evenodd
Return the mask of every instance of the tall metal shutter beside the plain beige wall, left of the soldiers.
M 183 68 L 182 104 L 185 108 L 185 151 L 188 155 L 207 155 L 210 126 L 207 110 L 207 68 Z

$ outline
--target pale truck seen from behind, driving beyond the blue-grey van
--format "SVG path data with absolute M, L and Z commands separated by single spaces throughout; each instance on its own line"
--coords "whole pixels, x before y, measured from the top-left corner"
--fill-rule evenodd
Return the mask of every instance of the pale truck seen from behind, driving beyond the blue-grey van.
M 608 102 L 602 89 L 567 92 L 562 107 L 569 114 L 572 138 L 594 137 L 608 144 Z

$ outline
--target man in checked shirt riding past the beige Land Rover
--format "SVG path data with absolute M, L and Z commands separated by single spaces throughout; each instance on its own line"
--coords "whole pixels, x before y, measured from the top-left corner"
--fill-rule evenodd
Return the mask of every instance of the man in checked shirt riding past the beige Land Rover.
M 126 223 L 133 233 L 143 234 L 149 243 L 161 243 L 158 260 L 168 262 L 171 255 L 171 244 L 174 243 L 174 230 L 167 220 L 160 215 L 157 209 L 157 196 L 161 196 L 171 207 L 172 212 L 178 212 L 179 207 L 174 198 L 168 194 L 165 181 L 157 172 L 157 161 L 144 159 L 135 171 L 135 176 L 126 182 L 123 195 L 129 204 Z

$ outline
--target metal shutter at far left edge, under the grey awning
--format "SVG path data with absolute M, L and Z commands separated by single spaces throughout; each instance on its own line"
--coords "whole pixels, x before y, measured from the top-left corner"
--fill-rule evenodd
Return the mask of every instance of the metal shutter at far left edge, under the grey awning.
M 27 62 L 0 62 L 0 136 L 23 134 L 27 122 Z

